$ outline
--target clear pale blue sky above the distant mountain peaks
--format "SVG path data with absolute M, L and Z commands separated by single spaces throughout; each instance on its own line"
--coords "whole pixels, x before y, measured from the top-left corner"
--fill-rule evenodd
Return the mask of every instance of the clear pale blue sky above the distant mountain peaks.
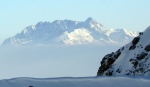
M 150 25 L 150 0 L 0 0 L 0 43 L 39 21 L 88 17 L 107 28 L 143 31 Z

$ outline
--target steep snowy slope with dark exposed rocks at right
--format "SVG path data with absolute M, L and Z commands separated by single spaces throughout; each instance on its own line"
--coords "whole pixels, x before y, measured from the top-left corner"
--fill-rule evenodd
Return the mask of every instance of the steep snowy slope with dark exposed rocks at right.
M 150 27 L 129 44 L 104 56 L 98 76 L 150 76 Z

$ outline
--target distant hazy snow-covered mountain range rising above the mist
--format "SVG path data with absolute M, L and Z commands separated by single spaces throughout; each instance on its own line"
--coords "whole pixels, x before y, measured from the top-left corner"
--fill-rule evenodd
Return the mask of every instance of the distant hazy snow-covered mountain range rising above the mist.
M 106 29 L 102 24 L 88 18 L 83 22 L 56 20 L 39 22 L 26 27 L 21 33 L 6 39 L 3 45 L 26 44 L 125 44 L 131 41 L 136 32 L 126 29 Z

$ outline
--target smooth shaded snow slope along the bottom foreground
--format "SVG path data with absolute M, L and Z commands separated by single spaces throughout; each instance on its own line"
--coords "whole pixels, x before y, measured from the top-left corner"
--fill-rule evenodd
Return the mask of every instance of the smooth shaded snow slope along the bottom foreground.
M 146 77 L 15 78 L 0 81 L 0 87 L 149 87 Z

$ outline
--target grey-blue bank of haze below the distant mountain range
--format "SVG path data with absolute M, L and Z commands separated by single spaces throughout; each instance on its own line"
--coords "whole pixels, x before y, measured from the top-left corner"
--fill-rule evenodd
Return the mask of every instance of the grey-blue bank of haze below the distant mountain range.
M 0 80 L 96 76 L 103 56 L 118 48 L 119 45 L 0 47 Z

